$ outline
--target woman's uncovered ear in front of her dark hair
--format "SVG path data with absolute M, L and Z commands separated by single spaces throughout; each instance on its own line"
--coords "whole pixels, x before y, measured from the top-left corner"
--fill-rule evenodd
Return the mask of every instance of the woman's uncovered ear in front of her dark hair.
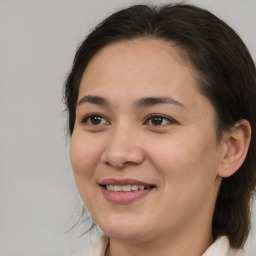
M 233 175 L 243 164 L 251 141 L 251 125 L 242 119 L 222 138 L 222 162 L 218 170 L 220 177 Z

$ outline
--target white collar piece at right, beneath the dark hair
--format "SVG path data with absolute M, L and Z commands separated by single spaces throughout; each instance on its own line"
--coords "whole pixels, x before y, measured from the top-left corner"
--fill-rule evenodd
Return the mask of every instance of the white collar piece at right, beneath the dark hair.
M 226 236 L 219 237 L 202 256 L 246 256 L 243 249 L 234 249 L 230 246 Z

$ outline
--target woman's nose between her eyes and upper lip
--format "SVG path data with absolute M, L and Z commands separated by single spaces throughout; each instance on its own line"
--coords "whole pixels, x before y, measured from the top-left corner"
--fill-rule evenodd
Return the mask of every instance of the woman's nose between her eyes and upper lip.
M 119 169 L 142 163 L 145 154 L 138 133 L 131 129 L 116 128 L 109 134 L 102 158 L 107 165 Z

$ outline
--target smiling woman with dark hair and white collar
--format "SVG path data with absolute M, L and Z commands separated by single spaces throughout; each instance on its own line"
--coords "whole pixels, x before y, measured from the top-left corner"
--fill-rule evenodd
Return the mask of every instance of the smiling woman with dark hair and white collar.
M 191 5 L 114 13 L 67 78 L 71 163 L 104 232 L 77 255 L 245 255 L 256 184 L 256 71 Z

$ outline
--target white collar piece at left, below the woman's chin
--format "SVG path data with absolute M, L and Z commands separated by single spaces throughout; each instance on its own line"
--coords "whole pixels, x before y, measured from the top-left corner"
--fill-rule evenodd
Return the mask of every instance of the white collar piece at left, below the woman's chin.
M 89 248 L 74 254 L 73 256 L 104 256 L 109 240 L 106 236 L 102 236 L 97 242 L 93 243 Z

